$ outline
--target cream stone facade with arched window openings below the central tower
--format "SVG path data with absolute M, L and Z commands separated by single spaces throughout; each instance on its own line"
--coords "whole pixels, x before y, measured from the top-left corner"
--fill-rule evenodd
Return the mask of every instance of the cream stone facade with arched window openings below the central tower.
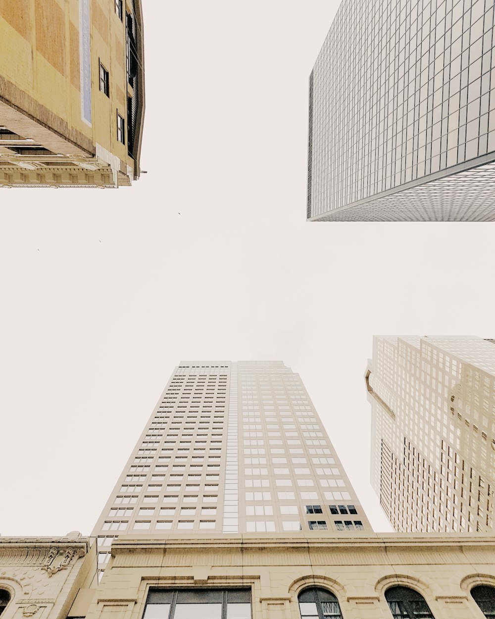
M 150 587 L 249 586 L 253 619 L 300 619 L 299 592 L 321 586 L 345 619 L 390 619 L 384 592 L 403 584 L 436 619 L 482 619 L 469 591 L 495 586 L 494 558 L 495 538 L 480 535 L 123 536 L 87 618 L 141 619 Z

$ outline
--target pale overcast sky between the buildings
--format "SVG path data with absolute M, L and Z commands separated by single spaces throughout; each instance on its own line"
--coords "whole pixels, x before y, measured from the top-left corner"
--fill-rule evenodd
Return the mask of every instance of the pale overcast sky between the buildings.
M 373 334 L 494 337 L 489 223 L 306 223 L 338 2 L 144 0 L 147 174 L 0 196 L 2 535 L 90 534 L 182 359 L 300 374 L 374 530 Z

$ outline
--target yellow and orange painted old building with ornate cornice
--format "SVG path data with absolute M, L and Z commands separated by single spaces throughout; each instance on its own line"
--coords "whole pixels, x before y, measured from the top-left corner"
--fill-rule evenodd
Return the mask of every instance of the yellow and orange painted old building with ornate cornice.
M 139 178 L 140 0 L 2 0 L 0 41 L 0 187 Z

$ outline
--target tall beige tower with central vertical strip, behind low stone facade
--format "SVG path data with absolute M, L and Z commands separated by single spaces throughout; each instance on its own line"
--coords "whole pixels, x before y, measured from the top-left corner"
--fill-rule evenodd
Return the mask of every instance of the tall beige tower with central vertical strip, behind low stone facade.
M 371 530 L 298 374 L 280 361 L 184 361 L 93 535 Z

